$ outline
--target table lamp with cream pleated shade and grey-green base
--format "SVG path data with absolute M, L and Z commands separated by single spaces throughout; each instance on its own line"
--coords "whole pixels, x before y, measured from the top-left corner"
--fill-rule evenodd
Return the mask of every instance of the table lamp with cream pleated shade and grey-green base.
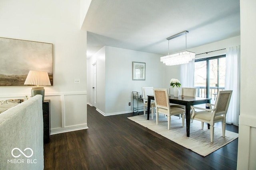
M 44 88 L 39 86 L 50 86 L 50 78 L 46 71 L 35 71 L 30 70 L 28 72 L 28 76 L 24 82 L 27 85 L 37 85 L 37 87 L 32 88 L 31 96 L 36 96 L 37 94 L 41 94 L 43 96 L 42 101 L 44 101 Z

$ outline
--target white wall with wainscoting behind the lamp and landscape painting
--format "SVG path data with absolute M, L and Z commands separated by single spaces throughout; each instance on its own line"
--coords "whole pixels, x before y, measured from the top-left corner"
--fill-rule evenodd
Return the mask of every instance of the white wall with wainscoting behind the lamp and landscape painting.
M 80 30 L 80 0 L 1 0 L 0 37 L 53 44 L 52 134 L 86 129 L 86 31 Z M 80 78 L 80 84 L 74 84 Z M 31 87 L 1 86 L 0 100 L 31 96 Z

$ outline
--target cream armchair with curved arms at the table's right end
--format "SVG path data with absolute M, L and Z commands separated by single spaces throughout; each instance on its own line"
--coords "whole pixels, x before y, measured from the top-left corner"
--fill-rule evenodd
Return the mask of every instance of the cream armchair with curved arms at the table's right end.
M 210 109 L 205 109 L 201 107 L 192 108 L 192 113 L 190 118 L 202 122 L 202 129 L 204 129 L 204 122 L 210 124 L 210 137 L 211 142 L 213 142 L 214 136 L 214 123 L 221 121 L 222 122 L 222 137 L 225 137 L 226 131 L 226 114 L 228 111 L 228 106 L 230 98 L 232 95 L 232 90 L 223 90 L 218 91 L 215 104 L 206 104 Z M 212 106 L 214 106 L 212 108 Z M 200 109 L 202 111 L 195 111 L 195 109 Z

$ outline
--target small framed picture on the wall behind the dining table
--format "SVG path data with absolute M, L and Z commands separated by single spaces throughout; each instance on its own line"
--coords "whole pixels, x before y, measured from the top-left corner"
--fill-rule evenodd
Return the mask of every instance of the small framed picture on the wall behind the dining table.
M 146 63 L 132 62 L 132 80 L 146 80 Z

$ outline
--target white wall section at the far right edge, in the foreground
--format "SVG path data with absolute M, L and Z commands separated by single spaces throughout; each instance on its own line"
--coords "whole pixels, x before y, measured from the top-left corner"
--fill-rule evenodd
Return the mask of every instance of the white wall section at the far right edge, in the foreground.
M 240 0 L 241 21 L 241 94 L 238 136 L 238 170 L 256 169 L 256 84 L 255 44 L 256 1 Z

